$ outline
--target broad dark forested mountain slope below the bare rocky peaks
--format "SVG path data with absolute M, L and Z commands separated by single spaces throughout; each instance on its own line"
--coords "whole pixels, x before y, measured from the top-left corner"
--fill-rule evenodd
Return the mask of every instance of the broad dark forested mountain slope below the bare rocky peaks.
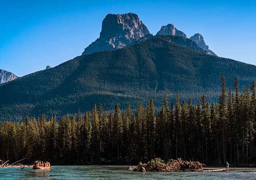
M 104 110 L 127 104 L 136 107 L 154 98 L 156 108 L 166 91 L 174 102 L 198 101 L 206 94 L 217 101 L 221 76 L 227 87 L 238 77 L 240 87 L 256 78 L 256 66 L 220 58 L 180 46 L 165 36 L 154 36 L 118 50 L 82 55 L 49 70 L 28 74 L 0 85 L 0 120 L 19 120 L 25 115 L 46 116 L 91 110 L 102 103 Z M 242 89 L 241 89 L 242 90 Z

